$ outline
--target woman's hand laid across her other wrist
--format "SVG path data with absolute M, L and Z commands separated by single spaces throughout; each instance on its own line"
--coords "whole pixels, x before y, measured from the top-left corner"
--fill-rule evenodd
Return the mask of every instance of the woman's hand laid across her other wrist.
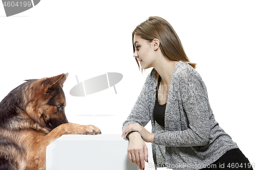
M 130 132 L 132 130 L 138 131 L 140 133 L 140 135 L 143 137 L 143 140 L 145 142 L 154 143 L 154 136 L 155 136 L 155 134 L 148 132 L 143 126 L 141 126 L 138 123 L 137 124 L 127 125 L 125 127 L 125 129 L 123 130 L 122 137 L 125 136 L 126 133 L 128 133 L 128 132 Z

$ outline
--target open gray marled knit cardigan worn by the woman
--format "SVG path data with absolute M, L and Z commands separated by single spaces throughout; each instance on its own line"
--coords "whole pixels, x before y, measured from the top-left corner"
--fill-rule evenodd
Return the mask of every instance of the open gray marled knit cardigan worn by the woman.
M 238 148 L 216 122 L 208 101 L 205 84 L 189 64 L 179 61 L 173 72 L 165 110 L 165 125 L 153 119 L 156 94 L 156 70 L 148 75 L 142 91 L 123 128 L 152 123 L 152 143 L 156 167 L 201 169 L 225 152 Z

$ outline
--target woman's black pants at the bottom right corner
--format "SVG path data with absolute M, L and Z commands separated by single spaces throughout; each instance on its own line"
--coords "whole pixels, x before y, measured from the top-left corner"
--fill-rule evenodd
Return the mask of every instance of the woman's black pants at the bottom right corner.
M 250 164 L 240 149 L 233 149 L 227 151 L 220 159 L 203 169 L 252 169 L 254 166 L 255 164 Z

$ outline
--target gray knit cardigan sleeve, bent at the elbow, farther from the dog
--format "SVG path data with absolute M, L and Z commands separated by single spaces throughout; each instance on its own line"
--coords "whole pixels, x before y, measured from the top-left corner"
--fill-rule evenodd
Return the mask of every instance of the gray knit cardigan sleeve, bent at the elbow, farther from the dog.
M 207 144 L 210 137 L 211 112 L 205 84 L 198 72 L 189 66 L 180 69 L 174 81 L 178 89 L 177 100 L 182 103 L 182 111 L 187 116 L 189 127 L 183 131 L 157 132 L 154 142 L 168 147 L 194 147 Z

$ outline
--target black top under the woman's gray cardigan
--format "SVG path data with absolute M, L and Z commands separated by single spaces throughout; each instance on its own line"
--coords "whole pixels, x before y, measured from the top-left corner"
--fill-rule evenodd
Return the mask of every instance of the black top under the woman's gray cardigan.
M 165 113 L 166 103 L 163 105 L 160 105 L 158 103 L 158 89 L 160 86 L 160 82 L 161 82 L 161 77 L 159 75 L 157 87 L 156 87 L 156 101 L 155 101 L 155 107 L 153 111 L 153 117 L 159 125 L 164 127 L 164 113 Z

